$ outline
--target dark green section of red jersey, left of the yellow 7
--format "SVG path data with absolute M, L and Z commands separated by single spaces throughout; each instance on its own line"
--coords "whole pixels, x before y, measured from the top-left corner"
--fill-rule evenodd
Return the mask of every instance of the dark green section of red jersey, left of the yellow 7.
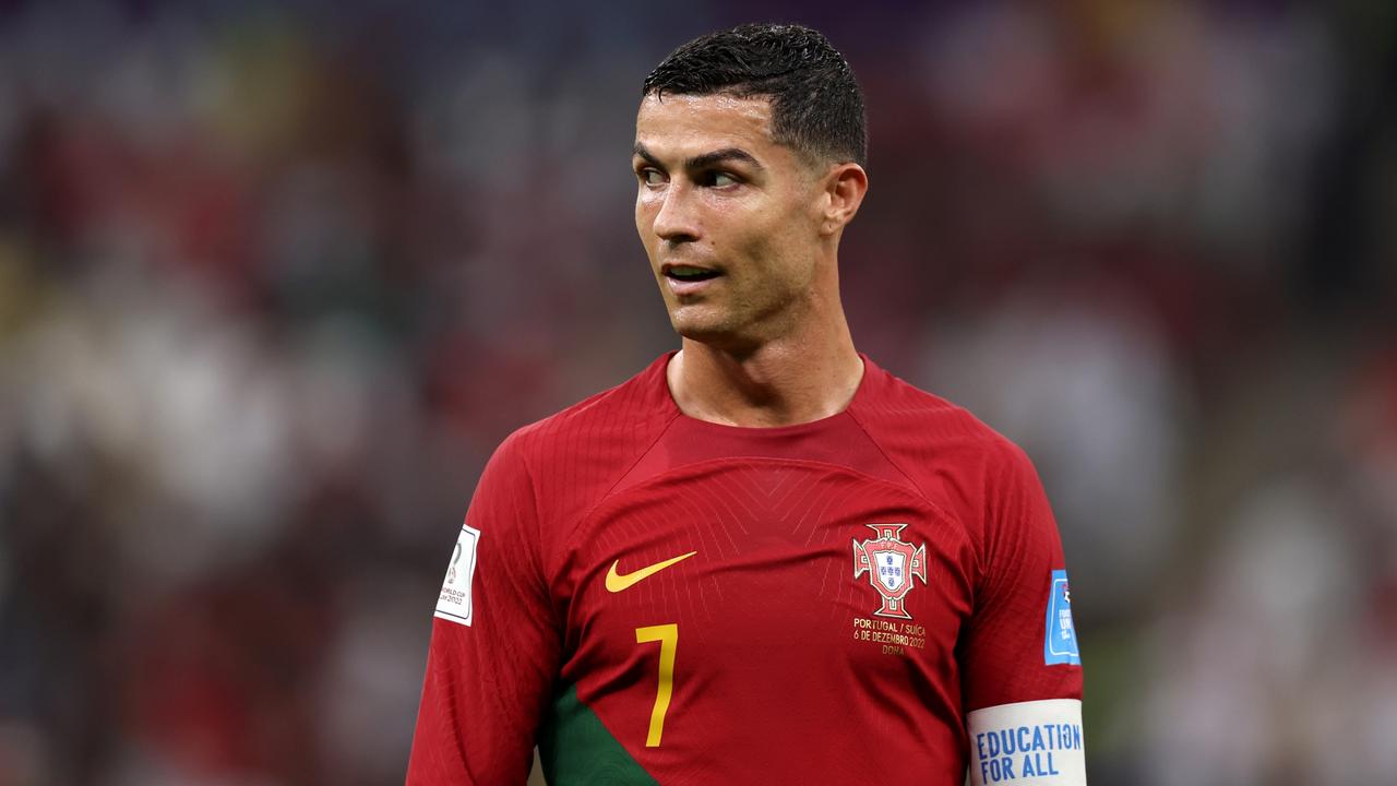
M 539 729 L 538 752 L 549 786 L 658 786 L 577 698 L 577 685 L 553 699 Z

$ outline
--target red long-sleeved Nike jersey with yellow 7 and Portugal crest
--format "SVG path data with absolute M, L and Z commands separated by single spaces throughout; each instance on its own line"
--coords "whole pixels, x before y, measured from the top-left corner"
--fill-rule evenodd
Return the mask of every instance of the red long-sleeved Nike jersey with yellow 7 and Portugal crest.
M 408 783 L 521 785 L 535 744 L 552 785 L 1077 783 L 1080 709 L 967 727 L 1081 695 L 1024 453 L 868 358 L 848 408 L 778 428 L 682 414 L 668 359 L 492 457 Z

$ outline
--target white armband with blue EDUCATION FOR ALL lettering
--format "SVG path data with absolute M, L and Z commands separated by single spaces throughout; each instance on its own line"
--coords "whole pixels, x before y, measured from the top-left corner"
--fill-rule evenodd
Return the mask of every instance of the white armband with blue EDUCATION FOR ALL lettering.
M 972 786 L 1087 786 L 1078 699 L 986 706 L 965 726 Z

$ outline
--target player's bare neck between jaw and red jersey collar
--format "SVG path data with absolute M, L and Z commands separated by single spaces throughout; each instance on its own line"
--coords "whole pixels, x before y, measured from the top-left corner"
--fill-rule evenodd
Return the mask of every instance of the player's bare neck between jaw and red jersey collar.
M 739 427 L 810 422 L 844 411 L 863 379 L 844 320 L 819 340 L 768 341 L 740 357 L 683 340 L 666 369 L 679 410 L 701 421 Z

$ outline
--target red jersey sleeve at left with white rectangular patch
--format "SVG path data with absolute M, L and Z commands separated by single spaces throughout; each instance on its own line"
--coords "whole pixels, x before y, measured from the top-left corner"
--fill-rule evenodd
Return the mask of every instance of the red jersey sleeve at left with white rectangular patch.
M 517 438 L 486 464 L 433 618 L 408 786 L 522 785 L 557 674 L 534 483 Z

